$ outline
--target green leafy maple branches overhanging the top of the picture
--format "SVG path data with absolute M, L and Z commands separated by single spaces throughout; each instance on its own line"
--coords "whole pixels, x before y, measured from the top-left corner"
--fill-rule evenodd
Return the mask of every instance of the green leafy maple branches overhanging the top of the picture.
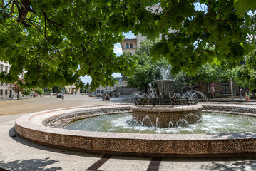
M 128 75 L 134 65 L 113 53 L 128 31 L 152 40 L 160 35 L 150 53 L 167 58 L 174 73 L 195 73 L 216 56 L 235 63 L 255 43 L 255 9 L 254 0 L 3 0 L 0 60 L 11 70 L 0 81 L 14 83 L 25 71 L 27 87 L 82 87 L 79 77 L 86 75 L 87 88 L 113 85 L 112 73 Z

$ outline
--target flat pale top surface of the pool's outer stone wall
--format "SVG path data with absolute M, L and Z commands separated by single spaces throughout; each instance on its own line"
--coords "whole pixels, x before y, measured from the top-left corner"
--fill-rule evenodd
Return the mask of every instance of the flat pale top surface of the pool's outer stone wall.
M 143 134 L 143 133 L 106 133 L 106 132 L 94 132 L 94 131 L 82 131 L 82 130 L 66 130 L 63 128 L 51 128 L 43 125 L 43 121 L 48 118 L 57 117 L 66 113 L 77 112 L 78 108 L 91 108 L 97 109 L 102 107 L 132 107 L 133 105 L 94 105 L 94 106 L 80 106 L 74 108 L 61 108 L 58 110 L 46 110 L 36 113 L 29 113 L 28 115 L 23 115 L 16 119 L 15 125 L 31 130 L 37 130 L 40 132 L 46 133 L 59 133 L 66 135 L 79 135 L 79 136 L 88 136 L 88 137 L 108 137 L 108 138 L 128 138 L 128 139 L 150 139 L 150 140 L 223 140 L 223 139 L 236 139 L 245 137 L 245 133 L 250 133 L 252 137 L 256 138 L 256 132 L 245 132 L 245 133 L 216 133 L 216 134 Z M 63 112 L 65 111 L 65 112 Z M 68 111 L 68 112 L 67 112 Z M 54 113 L 54 114 L 53 114 Z M 134 135 L 135 138 L 134 138 Z M 247 139 L 248 137 L 245 137 Z

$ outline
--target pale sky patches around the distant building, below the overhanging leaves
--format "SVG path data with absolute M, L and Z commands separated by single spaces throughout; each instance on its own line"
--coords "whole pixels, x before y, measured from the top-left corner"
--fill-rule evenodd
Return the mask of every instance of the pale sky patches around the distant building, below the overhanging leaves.
M 123 36 L 125 36 L 126 38 L 135 37 L 135 35 L 131 31 L 129 31 L 128 33 L 123 33 Z M 116 53 L 117 56 L 121 56 L 121 54 L 123 53 L 121 43 L 116 43 L 114 45 L 114 53 Z M 113 73 L 112 76 L 113 77 L 121 77 L 121 73 Z M 84 77 L 80 77 L 80 78 L 83 81 L 83 83 L 91 83 L 90 76 L 84 76 Z

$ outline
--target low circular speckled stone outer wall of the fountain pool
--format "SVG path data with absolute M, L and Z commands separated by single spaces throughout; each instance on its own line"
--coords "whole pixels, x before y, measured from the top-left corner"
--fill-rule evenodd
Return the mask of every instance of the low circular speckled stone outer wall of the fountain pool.
M 50 147 L 111 155 L 162 157 L 251 157 L 256 156 L 256 133 L 225 134 L 133 134 L 103 133 L 46 127 L 61 115 L 93 115 L 84 111 L 128 111 L 133 105 L 98 105 L 47 110 L 21 116 L 16 133 Z

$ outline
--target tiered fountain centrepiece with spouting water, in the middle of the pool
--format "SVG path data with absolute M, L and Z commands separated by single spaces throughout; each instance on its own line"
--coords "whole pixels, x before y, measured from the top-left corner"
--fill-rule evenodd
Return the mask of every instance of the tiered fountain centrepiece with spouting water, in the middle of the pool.
M 159 68 L 163 78 L 163 80 L 155 81 L 158 84 L 159 97 L 156 95 L 133 95 L 135 101 L 135 105 L 131 108 L 133 120 L 138 120 L 143 125 L 160 128 L 166 128 L 170 123 L 178 126 L 180 125 L 179 121 L 184 119 L 186 125 L 200 122 L 202 105 L 197 104 L 198 100 L 190 96 L 174 95 L 173 79 L 168 79 L 171 69 L 171 66 L 168 66 L 167 69 Z M 144 120 L 147 116 L 148 120 Z

